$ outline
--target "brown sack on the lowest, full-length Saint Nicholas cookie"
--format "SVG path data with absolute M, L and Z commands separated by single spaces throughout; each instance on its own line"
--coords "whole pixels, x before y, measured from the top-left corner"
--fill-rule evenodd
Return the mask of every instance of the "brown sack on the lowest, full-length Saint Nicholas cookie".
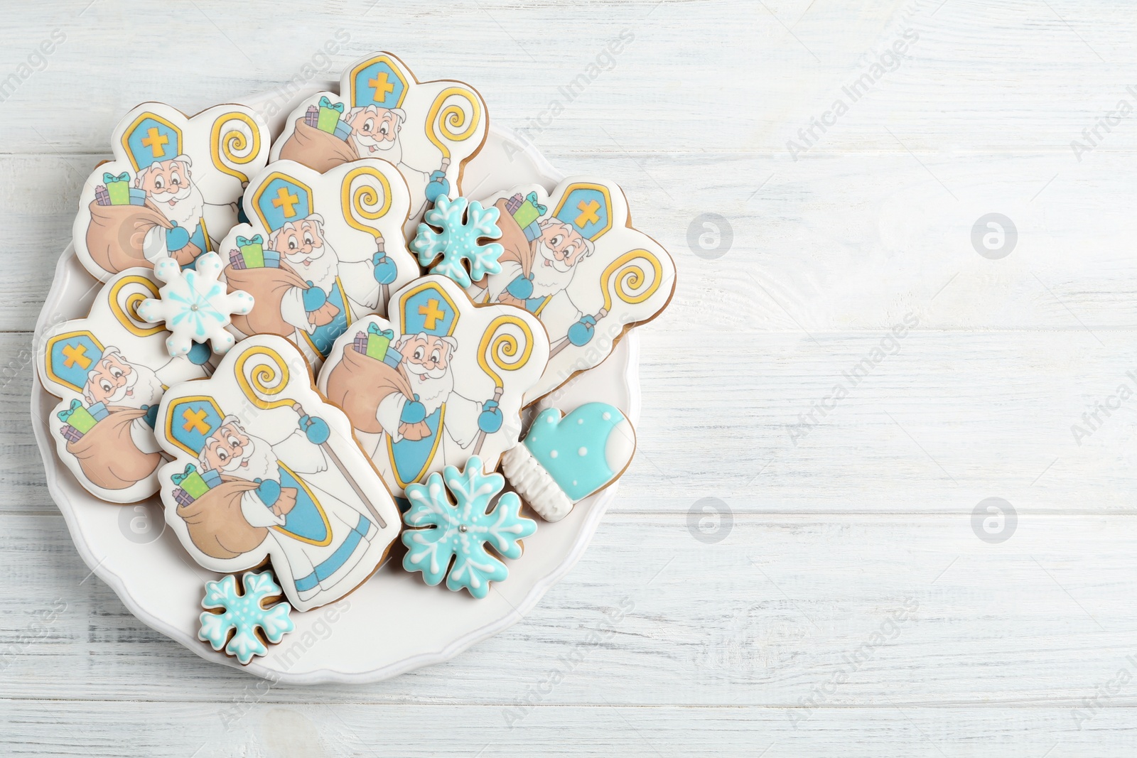
M 241 495 L 256 489 L 256 482 L 222 476 L 221 484 L 177 507 L 198 550 L 210 558 L 236 558 L 260 547 L 268 527 L 251 526 L 241 513 Z

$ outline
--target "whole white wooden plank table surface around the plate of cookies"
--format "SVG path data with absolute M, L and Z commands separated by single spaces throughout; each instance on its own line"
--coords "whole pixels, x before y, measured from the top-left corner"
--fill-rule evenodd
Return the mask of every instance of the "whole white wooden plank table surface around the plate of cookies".
M 280 6 L 6 9 L 0 753 L 1134 755 L 1137 119 L 1107 117 L 1137 106 L 1131 3 Z M 641 330 L 639 455 L 529 618 L 381 684 L 266 689 L 88 578 L 31 330 L 121 114 L 376 49 L 619 181 L 681 278 Z M 973 245 L 987 214 L 1013 249 Z

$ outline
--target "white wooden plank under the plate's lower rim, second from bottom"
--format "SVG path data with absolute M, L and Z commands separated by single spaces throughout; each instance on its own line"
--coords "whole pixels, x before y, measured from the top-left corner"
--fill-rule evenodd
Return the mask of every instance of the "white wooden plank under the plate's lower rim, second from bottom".
M 556 678 L 540 702 L 1076 708 L 1120 669 L 1137 673 L 1131 520 L 1020 515 L 994 544 L 972 532 L 970 509 L 735 514 L 708 543 L 687 514 L 612 514 L 511 630 L 381 684 L 273 688 L 265 702 L 520 707 Z M 61 518 L 2 524 L 0 649 L 16 650 L 0 697 L 223 703 L 255 683 L 84 581 Z M 1107 705 L 1137 706 L 1137 688 L 1118 686 Z

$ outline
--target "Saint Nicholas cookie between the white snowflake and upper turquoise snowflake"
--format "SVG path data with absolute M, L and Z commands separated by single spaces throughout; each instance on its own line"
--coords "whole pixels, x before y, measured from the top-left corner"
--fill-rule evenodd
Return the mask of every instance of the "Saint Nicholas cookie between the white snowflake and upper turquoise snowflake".
M 291 160 L 263 170 L 244 192 L 250 223 L 221 244 L 230 288 L 257 303 L 233 319 L 236 333 L 287 336 L 318 368 L 351 323 L 418 276 L 402 238 L 409 203 L 383 160 L 325 174 Z

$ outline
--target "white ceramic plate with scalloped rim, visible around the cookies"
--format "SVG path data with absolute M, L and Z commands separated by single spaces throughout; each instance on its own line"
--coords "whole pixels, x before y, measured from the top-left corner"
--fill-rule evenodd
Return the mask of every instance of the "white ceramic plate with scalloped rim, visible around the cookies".
M 296 102 L 333 84 L 310 85 L 296 94 L 269 123 L 279 134 Z M 260 108 L 268 99 L 250 99 Z M 562 178 L 540 153 L 513 133 L 491 125 L 482 151 L 466 166 L 463 185 L 485 197 L 516 184 L 540 183 L 551 190 Z M 35 325 L 35 344 L 48 326 L 90 310 L 94 281 L 67 245 Z M 621 408 L 639 418 L 638 341 L 626 335 L 612 356 L 538 403 L 566 410 L 590 400 Z M 418 574 L 388 560 L 358 590 L 335 607 L 293 614 L 297 628 L 269 648 L 267 656 L 240 666 L 197 638 L 204 584 L 219 575 L 197 566 L 172 531 L 165 530 L 161 503 L 115 506 L 89 494 L 59 461 L 48 436 L 47 418 L 57 400 L 35 382 L 32 418 L 47 470 L 48 490 L 59 505 L 75 547 L 86 565 L 149 626 L 207 660 L 296 684 L 375 682 L 420 666 L 447 660 L 480 640 L 521 620 L 541 595 L 580 559 L 597 524 L 615 497 L 615 486 L 581 501 L 556 524 L 538 518 L 525 552 L 509 560 L 509 578 L 495 583 L 483 600 L 423 583 Z

